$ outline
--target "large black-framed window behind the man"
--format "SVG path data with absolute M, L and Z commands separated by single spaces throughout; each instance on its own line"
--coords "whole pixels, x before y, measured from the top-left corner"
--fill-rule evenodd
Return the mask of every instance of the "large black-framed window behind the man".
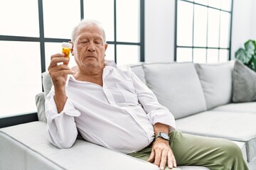
M 0 118 L 36 113 L 41 73 L 81 18 L 97 19 L 105 26 L 106 59 L 117 64 L 144 61 L 144 0 L 14 0 L 1 7 L 0 15 L 7 17 L 0 19 L 0 72 L 5 73 Z

